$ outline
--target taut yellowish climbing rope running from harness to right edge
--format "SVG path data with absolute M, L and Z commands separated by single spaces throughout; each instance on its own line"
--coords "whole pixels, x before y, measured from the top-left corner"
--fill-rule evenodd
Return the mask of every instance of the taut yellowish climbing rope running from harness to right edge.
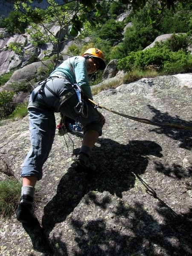
M 137 122 L 142 122 L 142 123 L 145 123 L 145 124 L 148 124 L 148 125 L 173 127 L 173 128 L 178 128 L 178 129 L 184 129 L 184 130 L 192 131 L 192 127 L 189 127 L 189 126 L 177 125 L 177 124 L 173 124 L 173 123 L 158 123 L 158 122 L 153 122 L 153 121 L 151 121 L 149 119 L 145 119 L 145 118 L 139 118 L 139 117 L 135 117 L 135 116 L 125 115 L 125 114 L 113 111 L 110 108 L 106 108 L 106 107 L 100 105 L 99 103 L 94 102 L 92 99 L 88 99 L 88 100 L 95 105 L 95 108 L 103 108 L 103 109 L 105 109 L 107 111 L 110 111 L 110 112 L 116 114 L 116 115 L 123 116 L 125 118 L 131 119 L 131 120 L 134 120 L 134 121 L 137 121 Z

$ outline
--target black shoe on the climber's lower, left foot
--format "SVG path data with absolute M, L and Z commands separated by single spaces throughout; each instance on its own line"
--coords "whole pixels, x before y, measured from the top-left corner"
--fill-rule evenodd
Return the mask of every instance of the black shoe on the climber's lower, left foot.
M 38 219 L 31 208 L 30 204 L 20 203 L 16 212 L 17 221 L 26 224 L 38 224 Z

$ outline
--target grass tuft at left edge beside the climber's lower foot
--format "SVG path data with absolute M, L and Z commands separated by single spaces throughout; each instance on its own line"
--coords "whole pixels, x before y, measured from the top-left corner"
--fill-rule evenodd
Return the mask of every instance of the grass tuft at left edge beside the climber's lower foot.
M 9 218 L 15 212 L 20 198 L 21 183 L 15 179 L 0 182 L 0 215 Z

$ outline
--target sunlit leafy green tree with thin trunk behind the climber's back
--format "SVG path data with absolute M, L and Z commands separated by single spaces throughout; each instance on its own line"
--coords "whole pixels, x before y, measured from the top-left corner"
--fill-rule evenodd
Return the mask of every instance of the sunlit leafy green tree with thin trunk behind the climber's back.
M 59 59 L 61 45 L 69 38 L 77 37 L 84 28 L 84 23 L 95 25 L 103 19 L 105 8 L 97 1 L 71 1 L 58 5 L 55 0 L 47 0 L 49 6 L 46 10 L 33 9 L 30 1 L 15 0 L 15 9 L 22 12 L 20 22 L 27 22 L 30 29 L 30 44 L 42 47 L 46 43 L 53 45 L 55 52 L 45 54 L 56 54 L 55 67 Z M 106 13 L 105 13 L 106 15 Z M 58 33 L 54 33 L 52 26 L 57 26 Z M 66 28 L 68 27 L 68 31 Z

